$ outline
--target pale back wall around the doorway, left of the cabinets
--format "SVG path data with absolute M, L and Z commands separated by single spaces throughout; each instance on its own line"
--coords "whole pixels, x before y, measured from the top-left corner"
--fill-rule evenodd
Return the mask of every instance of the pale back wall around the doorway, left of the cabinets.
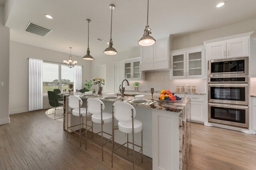
M 116 50 L 118 51 L 118 49 Z M 97 57 L 94 61 L 92 61 L 91 77 L 97 75 L 97 66 L 106 64 L 106 84 L 104 86 L 106 86 L 106 92 L 114 92 L 114 62 L 134 57 L 140 57 L 140 47 L 136 47 L 129 51 L 120 52 L 114 56 L 105 55 L 102 52 L 101 57 Z M 98 89 L 98 87 L 95 85 L 93 88 L 95 88 L 96 91 Z

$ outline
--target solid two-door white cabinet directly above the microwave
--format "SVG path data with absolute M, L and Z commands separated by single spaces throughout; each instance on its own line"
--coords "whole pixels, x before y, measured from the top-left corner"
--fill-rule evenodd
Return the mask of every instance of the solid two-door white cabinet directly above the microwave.
M 249 55 L 249 38 L 242 37 L 206 45 L 208 60 Z

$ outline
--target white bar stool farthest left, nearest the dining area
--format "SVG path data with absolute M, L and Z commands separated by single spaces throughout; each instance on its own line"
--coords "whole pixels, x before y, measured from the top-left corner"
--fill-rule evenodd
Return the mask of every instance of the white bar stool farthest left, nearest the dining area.
M 83 104 L 83 102 L 78 96 L 68 96 L 68 106 L 72 108 L 72 113 L 71 112 L 69 113 L 68 111 L 67 112 L 68 112 L 68 114 L 78 116 L 79 117 L 79 124 L 67 127 L 67 138 L 68 138 L 68 129 L 70 129 L 74 133 L 78 134 L 79 139 L 80 139 L 80 147 L 81 147 L 81 135 L 86 133 L 88 130 L 92 129 L 91 126 L 87 125 L 87 121 L 91 120 L 90 118 L 88 118 L 88 116 L 90 116 L 92 114 L 87 113 L 86 108 L 81 107 L 82 104 Z M 86 123 L 85 124 L 84 124 L 84 119 L 83 119 L 84 116 L 86 116 Z M 81 117 L 82 117 L 82 124 L 81 124 Z M 67 124 L 68 124 L 68 115 L 67 115 Z M 83 133 L 81 133 L 81 125 L 82 125 L 82 129 L 84 128 L 84 125 L 86 126 L 86 130 Z M 77 133 L 76 131 L 71 129 L 71 127 L 74 127 L 74 126 L 79 126 L 79 133 Z M 90 129 L 87 129 L 87 126 L 90 127 Z M 86 135 L 87 135 L 87 133 L 86 133 Z M 85 135 L 85 137 L 87 137 L 86 135 Z

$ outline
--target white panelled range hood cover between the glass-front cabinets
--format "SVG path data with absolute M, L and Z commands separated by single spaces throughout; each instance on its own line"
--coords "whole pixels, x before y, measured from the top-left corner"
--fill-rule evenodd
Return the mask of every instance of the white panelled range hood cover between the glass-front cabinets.
M 157 40 L 154 45 L 141 47 L 140 71 L 170 69 L 169 39 Z

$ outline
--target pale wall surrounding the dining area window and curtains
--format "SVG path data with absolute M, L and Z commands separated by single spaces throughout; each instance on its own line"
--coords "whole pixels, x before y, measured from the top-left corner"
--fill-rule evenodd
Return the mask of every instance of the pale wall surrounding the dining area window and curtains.
M 75 50 L 75 48 L 74 48 Z M 28 111 L 28 58 L 62 63 L 69 54 L 34 47 L 14 41 L 10 42 L 10 114 Z M 91 61 L 73 56 L 82 68 L 82 87 L 85 80 L 90 79 Z M 8 90 L 7 90 L 8 91 Z M 48 106 L 48 98 L 44 98 L 44 108 Z

